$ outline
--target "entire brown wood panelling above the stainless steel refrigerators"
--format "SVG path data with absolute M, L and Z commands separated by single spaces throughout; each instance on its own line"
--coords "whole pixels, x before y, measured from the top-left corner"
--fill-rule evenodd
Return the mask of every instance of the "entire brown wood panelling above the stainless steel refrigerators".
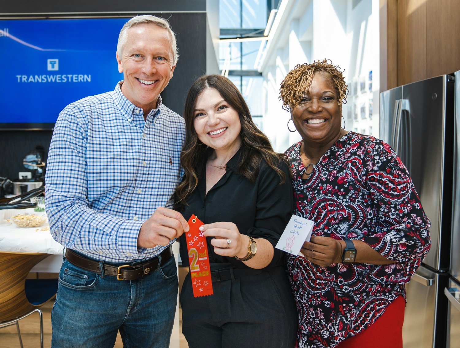
M 460 0 L 380 0 L 380 91 L 458 70 Z

